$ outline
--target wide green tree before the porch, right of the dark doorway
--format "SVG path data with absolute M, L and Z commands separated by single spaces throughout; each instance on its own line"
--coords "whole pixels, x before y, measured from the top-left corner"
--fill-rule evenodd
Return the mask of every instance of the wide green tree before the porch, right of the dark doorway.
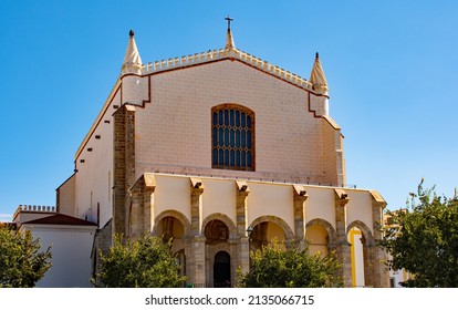
M 341 265 L 334 255 L 310 255 L 309 249 L 287 249 L 275 240 L 250 252 L 250 271 L 240 273 L 244 288 L 326 288 L 342 287 Z

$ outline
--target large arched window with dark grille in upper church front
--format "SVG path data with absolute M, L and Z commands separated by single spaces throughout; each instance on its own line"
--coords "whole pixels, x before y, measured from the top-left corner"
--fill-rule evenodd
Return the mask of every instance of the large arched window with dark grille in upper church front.
M 238 104 L 211 108 L 212 167 L 254 170 L 254 113 Z

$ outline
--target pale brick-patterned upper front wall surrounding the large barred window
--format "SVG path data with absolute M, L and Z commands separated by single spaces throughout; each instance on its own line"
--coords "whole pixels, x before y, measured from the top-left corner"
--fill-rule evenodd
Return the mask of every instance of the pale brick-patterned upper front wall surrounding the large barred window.
M 136 112 L 136 178 L 159 170 L 336 183 L 306 91 L 230 60 L 143 79 L 150 103 Z M 211 107 L 227 103 L 254 111 L 254 173 L 211 168 Z

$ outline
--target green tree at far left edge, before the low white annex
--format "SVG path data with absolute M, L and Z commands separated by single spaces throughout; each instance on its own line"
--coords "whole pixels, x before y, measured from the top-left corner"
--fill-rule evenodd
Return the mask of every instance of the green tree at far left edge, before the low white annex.
M 0 225 L 0 288 L 32 288 L 51 268 L 51 247 L 42 251 L 30 230 Z

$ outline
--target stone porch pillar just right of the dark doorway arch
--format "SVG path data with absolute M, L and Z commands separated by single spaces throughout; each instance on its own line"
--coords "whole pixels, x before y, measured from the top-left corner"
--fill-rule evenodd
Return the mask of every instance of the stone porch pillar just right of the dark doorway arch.
M 237 234 L 238 237 L 240 237 L 237 267 L 240 267 L 242 272 L 246 273 L 250 269 L 250 242 L 247 236 L 247 207 L 248 194 L 250 194 L 250 189 L 248 188 L 248 184 L 246 182 L 236 180 L 236 185 Z

